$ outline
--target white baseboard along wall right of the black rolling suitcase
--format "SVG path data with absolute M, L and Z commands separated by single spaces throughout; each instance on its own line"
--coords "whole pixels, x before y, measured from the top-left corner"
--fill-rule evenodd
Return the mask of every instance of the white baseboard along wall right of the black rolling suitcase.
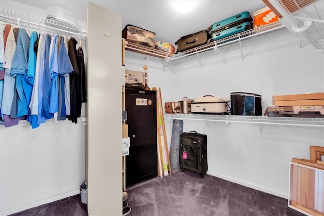
M 246 187 L 249 187 L 249 188 L 253 188 L 253 189 L 258 190 L 258 191 L 263 191 L 263 192 L 268 193 L 268 194 L 272 194 L 272 195 L 275 195 L 275 196 L 278 196 L 278 197 L 281 197 L 281 198 L 288 199 L 288 193 L 282 193 L 282 191 L 276 191 L 276 190 L 273 190 L 271 188 L 266 188 L 266 187 L 263 187 L 261 185 L 256 185 L 256 184 L 253 184 L 251 182 L 242 181 L 242 180 L 235 179 L 235 178 L 225 176 L 225 175 L 222 175 L 222 174 L 218 174 L 218 173 L 212 172 L 212 171 L 207 171 L 207 174 L 209 174 L 211 176 L 221 178 L 221 179 L 225 179 L 225 180 L 230 181 L 230 182 L 234 182 L 234 183 L 239 184 L 239 185 L 243 185 L 243 186 L 246 186 Z

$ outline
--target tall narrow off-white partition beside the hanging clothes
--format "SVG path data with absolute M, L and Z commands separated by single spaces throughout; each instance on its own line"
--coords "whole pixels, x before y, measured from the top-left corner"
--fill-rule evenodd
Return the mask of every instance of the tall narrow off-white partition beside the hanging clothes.
M 121 215 L 121 15 L 88 5 L 89 215 Z

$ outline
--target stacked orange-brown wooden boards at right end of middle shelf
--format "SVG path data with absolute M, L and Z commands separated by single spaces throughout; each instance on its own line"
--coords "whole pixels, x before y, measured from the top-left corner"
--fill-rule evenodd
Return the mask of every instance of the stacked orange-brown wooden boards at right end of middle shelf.
M 276 95 L 272 103 L 274 106 L 324 106 L 324 93 Z

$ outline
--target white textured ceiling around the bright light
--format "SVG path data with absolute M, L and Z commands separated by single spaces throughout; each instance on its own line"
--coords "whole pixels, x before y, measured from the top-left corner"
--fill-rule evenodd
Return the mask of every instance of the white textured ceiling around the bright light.
M 87 0 L 15 0 L 16 2 L 47 10 L 50 6 L 66 8 L 80 21 L 87 19 Z M 174 44 L 181 36 L 207 29 L 215 22 L 244 11 L 253 12 L 266 5 L 262 0 L 208 0 L 195 1 L 188 14 L 175 10 L 174 0 L 90 0 L 94 4 L 119 12 L 122 28 L 127 24 L 155 32 L 155 39 Z M 32 14 L 32 12 L 30 12 Z

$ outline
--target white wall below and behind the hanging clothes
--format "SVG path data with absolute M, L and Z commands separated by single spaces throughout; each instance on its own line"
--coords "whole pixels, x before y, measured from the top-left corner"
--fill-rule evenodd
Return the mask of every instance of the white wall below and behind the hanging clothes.
M 14 1 L 0 6 L 46 15 Z M 78 194 L 85 180 L 85 134 L 83 122 L 0 126 L 0 215 Z

